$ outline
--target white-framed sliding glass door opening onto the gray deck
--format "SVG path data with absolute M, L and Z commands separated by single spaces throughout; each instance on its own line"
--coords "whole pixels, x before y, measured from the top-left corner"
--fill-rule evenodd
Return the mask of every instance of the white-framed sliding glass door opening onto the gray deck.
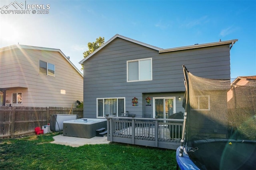
M 153 97 L 153 117 L 168 119 L 176 112 L 176 97 Z

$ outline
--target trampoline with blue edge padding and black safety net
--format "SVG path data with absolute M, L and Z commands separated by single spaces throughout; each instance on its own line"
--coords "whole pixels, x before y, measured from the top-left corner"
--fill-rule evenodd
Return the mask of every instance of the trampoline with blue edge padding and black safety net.
M 206 79 L 183 66 L 181 170 L 256 170 L 256 76 Z

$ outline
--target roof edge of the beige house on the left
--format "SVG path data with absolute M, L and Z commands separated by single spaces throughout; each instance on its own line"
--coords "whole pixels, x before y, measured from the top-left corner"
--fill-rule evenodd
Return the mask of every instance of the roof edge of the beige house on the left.
M 0 52 L 12 50 L 12 49 L 15 49 L 15 48 L 19 48 L 19 49 L 36 49 L 36 50 L 59 52 L 62 55 L 62 57 L 64 59 L 66 59 L 66 61 L 68 61 L 68 63 L 70 63 L 70 65 L 72 65 L 72 67 L 74 67 L 74 69 L 76 69 L 76 71 L 83 77 L 83 74 L 76 68 L 76 66 L 68 59 L 68 57 L 66 57 L 66 55 L 60 49 L 15 44 L 15 45 L 10 45 L 10 46 L 7 46 L 7 47 L 0 48 Z

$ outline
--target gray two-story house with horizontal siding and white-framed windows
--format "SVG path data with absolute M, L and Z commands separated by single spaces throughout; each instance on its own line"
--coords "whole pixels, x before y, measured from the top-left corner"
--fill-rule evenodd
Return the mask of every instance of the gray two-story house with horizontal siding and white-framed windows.
M 237 41 L 162 49 L 116 34 L 80 61 L 84 117 L 129 113 L 165 119 L 184 112 L 182 65 L 196 76 L 230 79 L 230 49 Z

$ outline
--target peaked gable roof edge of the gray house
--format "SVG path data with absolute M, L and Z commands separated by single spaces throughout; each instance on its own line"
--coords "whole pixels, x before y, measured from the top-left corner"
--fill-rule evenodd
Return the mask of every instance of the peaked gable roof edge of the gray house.
M 139 45 L 143 45 L 145 47 L 148 47 L 148 48 L 151 48 L 151 49 L 155 49 L 157 51 L 159 51 L 160 49 L 162 48 L 158 48 L 158 47 L 155 47 L 153 45 L 149 45 L 149 44 L 146 44 L 146 43 L 143 43 L 143 42 L 139 42 L 137 40 L 133 40 L 131 38 L 128 38 L 128 37 L 124 37 L 124 36 L 121 36 L 119 34 L 116 34 L 114 37 L 110 38 L 110 40 L 108 40 L 106 43 L 104 43 L 102 46 L 100 46 L 98 49 L 96 49 L 93 53 L 91 53 L 90 55 L 88 55 L 87 57 L 85 57 L 84 59 L 82 59 L 79 63 L 82 64 L 84 61 L 86 61 L 88 58 L 90 58 L 92 55 L 94 55 L 95 53 L 97 53 L 98 51 L 100 51 L 100 49 L 102 49 L 103 47 L 105 47 L 106 45 L 108 45 L 108 43 L 112 42 L 113 40 L 115 40 L 116 38 L 122 38 L 123 40 L 127 40 L 129 42 L 133 42 L 133 43 L 136 43 L 136 44 L 139 44 Z

